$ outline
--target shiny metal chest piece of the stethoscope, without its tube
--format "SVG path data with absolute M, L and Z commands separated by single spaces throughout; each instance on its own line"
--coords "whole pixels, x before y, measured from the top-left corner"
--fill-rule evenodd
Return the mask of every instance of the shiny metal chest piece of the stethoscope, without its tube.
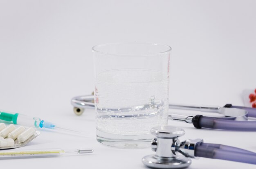
M 157 138 L 152 140 L 152 150 L 156 154 L 142 158 L 144 165 L 159 169 L 180 169 L 191 165 L 191 159 L 182 155 L 175 155 L 172 146 L 177 143 L 177 138 L 183 136 L 183 129 L 171 126 L 154 127 L 151 133 Z

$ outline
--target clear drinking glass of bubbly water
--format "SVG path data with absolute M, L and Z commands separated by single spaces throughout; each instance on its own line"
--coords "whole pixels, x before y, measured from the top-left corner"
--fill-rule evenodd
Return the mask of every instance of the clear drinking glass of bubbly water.
M 98 142 L 133 149 L 150 146 L 150 129 L 168 122 L 171 47 L 108 43 L 92 52 Z

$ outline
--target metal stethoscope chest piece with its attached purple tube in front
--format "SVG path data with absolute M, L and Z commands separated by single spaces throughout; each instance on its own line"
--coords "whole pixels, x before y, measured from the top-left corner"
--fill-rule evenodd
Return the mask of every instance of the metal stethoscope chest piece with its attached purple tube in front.
M 191 158 L 213 158 L 256 164 L 256 153 L 227 145 L 204 143 L 202 139 L 180 142 L 183 129 L 160 126 L 151 129 L 156 136 L 151 142 L 151 149 L 156 153 L 144 156 L 142 162 L 150 168 L 178 169 L 191 165 Z M 168 148 L 167 148 L 168 147 Z

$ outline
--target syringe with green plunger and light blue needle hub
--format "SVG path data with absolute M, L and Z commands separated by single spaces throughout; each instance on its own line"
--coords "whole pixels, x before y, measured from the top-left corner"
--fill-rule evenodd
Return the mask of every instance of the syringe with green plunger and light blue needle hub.
M 52 122 L 47 122 L 45 120 L 41 120 L 40 118 L 37 118 L 37 117 L 33 118 L 20 113 L 11 113 L 11 112 L 0 110 L 0 120 L 4 120 L 4 121 L 12 122 L 13 124 L 24 125 L 28 127 L 46 128 L 46 129 L 54 129 L 54 130 L 61 129 L 64 131 L 81 133 L 81 131 L 68 129 L 66 127 L 56 125 Z

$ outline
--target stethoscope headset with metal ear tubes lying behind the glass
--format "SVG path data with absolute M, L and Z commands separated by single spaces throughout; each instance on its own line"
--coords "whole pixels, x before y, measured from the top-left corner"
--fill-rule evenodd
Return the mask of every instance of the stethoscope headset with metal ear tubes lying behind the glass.
M 72 98 L 71 104 L 74 107 L 74 113 L 81 115 L 85 109 L 94 109 L 94 96 L 77 96 Z M 148 107 L 161 107 L 161 103 L 156 103 L 154 98 L 145 105 L 137 105 L 133 109 L 147 109 Z M 233 106 L 230 104 L 224 107 L 204 107 L 204 106 L 188 106 L 188 105 L 171 105 L 170 109 L 186 109 L 186 110 L 198 110 L 204 112 L 220 113 L 225 117 L 216 118 L 209 116 L 183 116 L 177 114 L 169 114 L 168 118 L 171 120 L 183 121 L 186 123 L 192 123 L 194 127 L 209 128 L 209 129 L 223 129 L 234 131 L 256 131 L 256 121 L 247 121 L 248 117 L 256 117 L 256 109 L 250 107 Z M 121 109 L 122 110 L 122 109 Z M 115 109 L 112 109 L 115 112 Z M 116 110 L 117 111 L 117 110 Z M 120 109 L 118 109 L 120 111 Z M 154 114 L 152 114 L 154 116 Z M 125 115 L 124 118 L 130 118 L 130 115 Z

